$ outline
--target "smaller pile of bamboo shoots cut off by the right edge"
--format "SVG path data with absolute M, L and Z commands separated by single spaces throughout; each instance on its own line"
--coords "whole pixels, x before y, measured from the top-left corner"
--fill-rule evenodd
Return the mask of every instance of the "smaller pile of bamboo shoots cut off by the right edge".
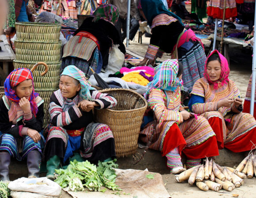
M 249 154 L 235 169 L 238 172 L 247 174 L 248 179 L 253 177 L 253 174 L 256 176 L 256 157 L 253 153 Z

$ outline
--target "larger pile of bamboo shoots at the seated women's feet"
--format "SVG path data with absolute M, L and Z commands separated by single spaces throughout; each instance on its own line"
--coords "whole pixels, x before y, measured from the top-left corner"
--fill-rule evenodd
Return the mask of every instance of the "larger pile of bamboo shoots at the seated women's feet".
M 221 189 L 233 191 L 235 187 L 240 187 L 244 184 L 245 178 L 246 175 L 241 170 L 238 171 L 230 167 L 219 166 L 212 159 L 209 161 L 208 158 L 205 165 L 195 166 L 175 176 L 178 183 L 188 180 L 189 185 L 192 186 L 196 183 L 196 186 L 203 191 L 209 189 L 212 191 L 219 191 Z

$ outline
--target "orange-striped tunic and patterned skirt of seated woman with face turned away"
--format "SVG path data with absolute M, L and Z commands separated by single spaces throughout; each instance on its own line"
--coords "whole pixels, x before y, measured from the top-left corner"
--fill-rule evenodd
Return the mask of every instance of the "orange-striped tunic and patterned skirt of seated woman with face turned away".
M 166 92 L 166 94 L 163 90 L 154 88 L 151 90 L 149 99 L 147 100 L 149 108 L 154 111 L 154 115 L 157 119 L 154 137 L 150 146 L 151 149 L 162 151 L 166 133 L 174 123 L 179 125 L 181 133 L 187 143 L 184 149 L 199 145 L 210 137 L 215 136 L 208 121 L 202 116 L 199 116 L 197 120 L 190 118 L 183 121 L 183 117 L 180 113 L 180 110 L 183 110 L 181 107 L 180 88 L 177 88 L 176 92 L 169 91 Z M 147 143 L 149 141 L 153 130 L 154 122 L 150 122 L 143 128 L 140 132 L 140 134 L 143 135 L 143 142 Z

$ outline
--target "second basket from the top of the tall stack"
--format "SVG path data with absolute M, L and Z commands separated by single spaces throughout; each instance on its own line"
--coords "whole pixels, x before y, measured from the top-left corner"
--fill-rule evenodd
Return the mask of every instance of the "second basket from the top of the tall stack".
M 23 33 L 17 32 L 17 40 L 36 40 L 36 41 L 60 41 L 59 33 Z

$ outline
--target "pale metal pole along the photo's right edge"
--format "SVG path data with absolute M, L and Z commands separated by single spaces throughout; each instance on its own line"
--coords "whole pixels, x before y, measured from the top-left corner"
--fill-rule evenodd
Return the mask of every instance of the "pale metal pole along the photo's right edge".
M 256 7 L 256 4 L 255 4 Z M 255 29 L 256 29 L 256 8 L 255 8 L 255 13 L 254 13 L 254 35 L 255 34 Z M 256 39 L 255 36 L 253 37 L 253 56 L 252 56 L 252 92 L 251 92 L 251 105 L 250 105 L 250 114 L 253 115 L 253 110 L 254 110 L 254 94 L 255 94 L 255 81 L 256 81 L 256 51 L 255 51 L 255 44 L 256 44 Z

